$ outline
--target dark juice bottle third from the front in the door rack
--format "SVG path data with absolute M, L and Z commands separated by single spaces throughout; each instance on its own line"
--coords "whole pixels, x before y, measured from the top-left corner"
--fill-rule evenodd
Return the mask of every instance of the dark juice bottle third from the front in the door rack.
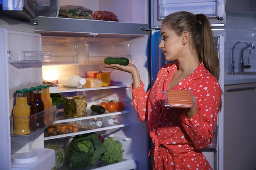
M 32 87 L 33 89 L 33 97 L 36 106 L 36 113 L 44 111 L 44 102 L 42 100 L 42 88 L 41 87 Z M 37 115 L 36 125 L 38 128 L 43 128 L 44 124 L 44 113 Z

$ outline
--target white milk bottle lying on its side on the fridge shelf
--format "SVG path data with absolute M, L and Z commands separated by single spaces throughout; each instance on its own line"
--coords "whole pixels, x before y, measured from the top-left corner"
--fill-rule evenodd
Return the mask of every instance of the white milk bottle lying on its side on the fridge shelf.
M 60 75 L 58 77 L 58 83 L 62 86 L 70 87 L 70 88 L 80 88 L 82 85 L 85 85 L 86 80 L 81 78 L 79 75 Z

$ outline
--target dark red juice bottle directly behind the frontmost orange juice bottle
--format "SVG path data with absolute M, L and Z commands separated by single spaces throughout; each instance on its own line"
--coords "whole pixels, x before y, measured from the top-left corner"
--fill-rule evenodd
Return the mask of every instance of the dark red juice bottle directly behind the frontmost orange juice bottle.
M 36 128 L 36 118 L 37 116 L 34 115 L 36 113 L 36 106 L 34 102 L 34 97 L 33 97 L 33 89 L 32 88 L 23 88 L 24 90 L 27 90 L 27 99 L 28 99 L 28 105 L 30 108 L 30 122 L 29 122 L 29 128 L 31 131 L 35 131 Z M 32 116 L 34 115 L 34 116 Z

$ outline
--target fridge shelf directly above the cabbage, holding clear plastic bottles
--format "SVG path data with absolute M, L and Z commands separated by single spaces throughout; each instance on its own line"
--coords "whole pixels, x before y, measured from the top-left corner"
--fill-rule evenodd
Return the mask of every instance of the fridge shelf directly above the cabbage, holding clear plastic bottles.
M 130 126 L 130 124 L 128 124 L 128 123 L 121 124 L 121 123 L 114 122 L 113 125 L 111 125 L 111 126 L 99 127 L 99 128 L 95 128 L 95 129 L 92 129 L 92 130 L 86 130 L 85 128 L 79 127 L 78 132 L 55 135 L 55 136 L 47 136 L 47 137 L 44 137 L 44 140 L 46 141 L 46 140 L 51 140 L 51 139 L 64 138 L 64 137 L 69 137 L 69 136 L 76 136 L 76 135 L 81 135 L 81 134 L 86 134 L 86 133 L 99 132 L 99 131 L 102 131 L 102 130 L 109 130 L 109 129 L 116 129 L 116 128 L 120 128 L 120 127 L 126 127 L 126 126 Z M 44 134 L 46 135 L 47 133 L 44 133 Z

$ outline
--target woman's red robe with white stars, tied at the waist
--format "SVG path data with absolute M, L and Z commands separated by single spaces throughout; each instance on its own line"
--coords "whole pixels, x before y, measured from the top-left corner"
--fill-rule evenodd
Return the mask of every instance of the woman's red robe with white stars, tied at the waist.
M 164 65 L 146 93 L 143 82 L 134 89 L 133 105 L 140 121 L 147 122 L 154 142 L 154 170 L 212 170 L 202 150 L 212 142 L 221 99 L 218 80 L 201 62 L 175 90 L 192 90 L 198 112 L 190 119 L 184 109 L 166 108 L 163 91 L 167 89 L 178 63 Z M 159 147 L 161 145 L 161 147 Z

